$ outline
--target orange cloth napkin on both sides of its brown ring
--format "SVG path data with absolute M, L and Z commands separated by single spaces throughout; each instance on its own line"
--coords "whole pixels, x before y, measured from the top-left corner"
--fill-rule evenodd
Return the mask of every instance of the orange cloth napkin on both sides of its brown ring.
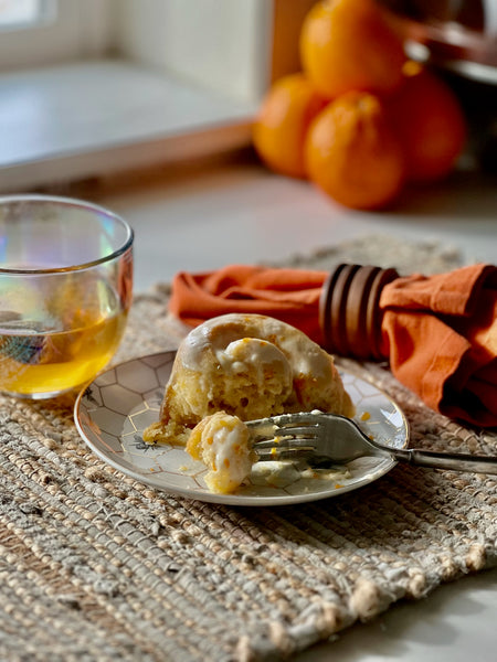
M 318 343 L 326 271 L 231 265 L 178 274 L 170 311 L 197 325 L 226 312 L 258 312 Z M 497 267 L 474 265 L 383 288 L 383 354 L 396 378 L 446 416 L 497 426 Z

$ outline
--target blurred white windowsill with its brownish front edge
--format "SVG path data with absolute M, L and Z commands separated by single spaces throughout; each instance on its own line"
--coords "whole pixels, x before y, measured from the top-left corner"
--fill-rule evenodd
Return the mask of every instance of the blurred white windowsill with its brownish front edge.
M 0 75 L 0 192 L 243 147 L 257 104 L 118 60 Z

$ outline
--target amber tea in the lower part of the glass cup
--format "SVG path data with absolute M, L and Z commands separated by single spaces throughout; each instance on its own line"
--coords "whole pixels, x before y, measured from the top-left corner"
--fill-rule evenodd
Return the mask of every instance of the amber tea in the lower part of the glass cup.
M 54 292 L 45 320 L 0 312 L 0 391 L 50 397 L 91 381 L 114 355 L 127 317 L 119 298 L 105 281 L 74 285 Z

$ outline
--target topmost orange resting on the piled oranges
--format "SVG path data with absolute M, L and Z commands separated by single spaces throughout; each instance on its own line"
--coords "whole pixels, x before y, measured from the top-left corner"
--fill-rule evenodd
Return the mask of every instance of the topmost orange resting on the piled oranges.
M 350 90 L 389 94 L 402 82 L 403 41 L 374 0 L 325 0 L 300 31 L 304 73 L 335 98 Z

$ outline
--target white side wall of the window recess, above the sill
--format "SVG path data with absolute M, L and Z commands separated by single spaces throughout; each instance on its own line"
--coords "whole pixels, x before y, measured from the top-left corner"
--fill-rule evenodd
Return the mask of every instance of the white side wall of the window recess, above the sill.
M 120 0 L 115 45 L 241 100 L 260 98 L 271 57 L 271 0 Z

